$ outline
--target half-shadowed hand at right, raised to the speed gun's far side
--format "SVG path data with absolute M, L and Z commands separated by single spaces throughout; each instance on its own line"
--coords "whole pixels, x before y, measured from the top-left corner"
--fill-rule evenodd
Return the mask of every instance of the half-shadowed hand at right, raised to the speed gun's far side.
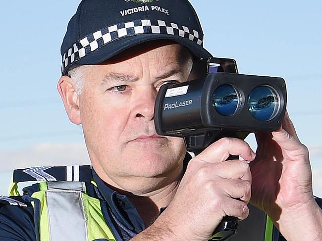
M 309 153 L 300 143 L 287 112 L 279 130 L 258 133 L 256 138 L 256 159 L 250 164 L 251 203 L 277 222 L 282 210 L 314 199 Z

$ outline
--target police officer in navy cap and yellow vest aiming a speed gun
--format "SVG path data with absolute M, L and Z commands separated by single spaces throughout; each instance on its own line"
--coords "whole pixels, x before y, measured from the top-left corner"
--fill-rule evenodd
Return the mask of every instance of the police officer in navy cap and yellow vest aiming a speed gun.
M 0 240 L 202 241 L 227 215 L 249 216 L 234 240 L 322 240 L 308 150 L 287 115 L 258 134 L 256 154 L 223 138 L 191 159 L 182 139 L 156 134 L 159 88 L 193 79 L 194 60 L 211 56 L 202 46 L 187 0 L 82 0 L 61 46 L 58 92 L 92 167 L 15 170 L 0 198 Z M 39 183 L 20 194 L 24 181 Z

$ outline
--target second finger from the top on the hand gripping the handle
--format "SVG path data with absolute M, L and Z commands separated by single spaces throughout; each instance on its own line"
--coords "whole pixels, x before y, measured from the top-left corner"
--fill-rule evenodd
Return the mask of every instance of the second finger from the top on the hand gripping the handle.
M 249 164 L 245 160 L 229 160 L 212 167 L 210 172 L 225 179 L 242 179 L 252 181 Z

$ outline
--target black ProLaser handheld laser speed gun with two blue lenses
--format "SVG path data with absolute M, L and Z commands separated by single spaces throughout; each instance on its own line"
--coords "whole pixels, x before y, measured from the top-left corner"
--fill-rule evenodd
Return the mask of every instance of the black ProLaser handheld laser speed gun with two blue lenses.
M 278 77 L 238 74 L 235 60 L 202 59 L 199 78 L 161 86 L 155 104 L 156 131 L 182 137 L 199 154 L 222 137 L 245 139 L 249 133 L 275 131 L 286 110 L 285 81 Z M 225 217 L 212 240 L 237 233 L 238 222 Z

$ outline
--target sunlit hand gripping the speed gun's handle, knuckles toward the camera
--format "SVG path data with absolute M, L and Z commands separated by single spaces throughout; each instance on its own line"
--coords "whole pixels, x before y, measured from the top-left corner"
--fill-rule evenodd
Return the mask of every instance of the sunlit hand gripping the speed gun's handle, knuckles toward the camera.
M 223 138 L 210 145 L 189 162 L 174 198 L 154 225 L 166 225 L 174 240 L 192 241 L 209 239 L 226 215 L 245 219 L 251 196 L 249 164 L 225 161 L 229 154 L 249 161 L 255 157 L 238 139 Z

